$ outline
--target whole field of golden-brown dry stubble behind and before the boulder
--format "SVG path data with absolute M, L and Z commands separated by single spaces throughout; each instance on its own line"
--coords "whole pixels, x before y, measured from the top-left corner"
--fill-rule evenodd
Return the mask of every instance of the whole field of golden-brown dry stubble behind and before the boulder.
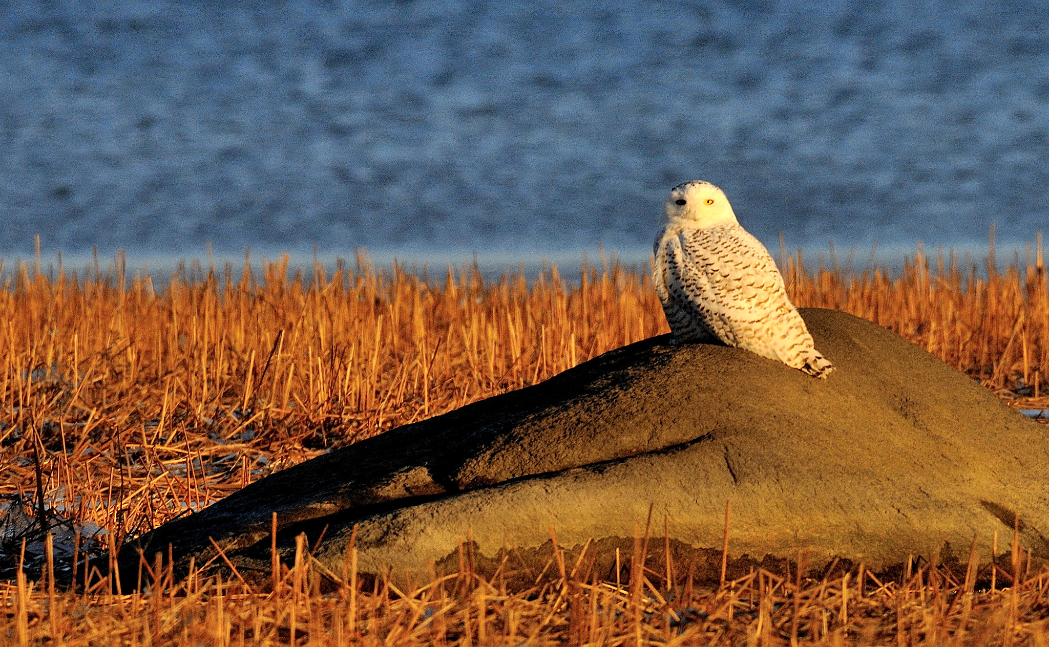
M 1041 237 L 1004 273 L 920 252 L 897 278 L 837 264 L 807 269 L 799 255 L 783 264 L 798 306 L 864 317 L 1010 405 L 1049 406 Z M 507 591 L 469 568 L 414 591 L 383 582 L 359 590 L 346 581 L 351 573 L 322 576 L 304 553 L 276 590 L 208 574 L 172 582 L 145 566 L 153 592 L 116 596 L 105 568 L 83 560 L 80 586 L 55 588 L 46 574 L 68 574 L 71 549 L 97 557 L 109 542 L 327 448 L 535 384 L 667 327 L 646 271 L 614 260 L 571 283 L 551 268 L 531 284 L 520 276 L 485 282 L 469 267 L 424 280 L 362 258 L 330 276 L 320 266 L 288 276 L 286 261 L 254 272 L 194 265 L 165 285 L 126 277 L 120 259 L 106 272 L 48 278 L 20 266 L 8 276 L 0 289 L 0 496 L 30 513 L 26 519 L 46 509 L 57 539 L 50 566 L 38 557 L 36 525 L 22 533 L 28 548 L 18 539 L 0 546 L 0 575 L 13 581 L 0 585 L 0 642 L 1049 641 L 1049 570 L 1031 567 L 1008 538 L 1000 567 L 973 555 L 964 578 L 921 562 L 894 581 L 857 568 L 809 580 L 797 578 L 795 564 L 793 575 L 758 571 L 714 591 L 693 589 L 655 549 L 630 558 L 649 578 L 621 587 L 591 581 L 584 556 L 562 554 L 560 577 L 529 590 Z M 70 535 L 64 520 L 108 534 L 61 539 Z M 12 569 L 19 561 L 25 568 Z M 1008 590 L 983 590 L 992 574 L 996 588 Z

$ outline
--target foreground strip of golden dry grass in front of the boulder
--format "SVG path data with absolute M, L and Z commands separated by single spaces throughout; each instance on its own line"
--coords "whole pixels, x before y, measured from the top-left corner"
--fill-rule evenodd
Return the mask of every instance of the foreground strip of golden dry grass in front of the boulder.
M 49 583 L 34 590 L 19 574 L 15 584 L 0 585 L 0 605 L 7 609 L 0 637 L 18 645 L 221 647 L 1041 646 L 1049 638 L 1049 570 L 1028 576 L 1015 541 L 1012 576 L 1000 573 L 1019 584 L 981 592 L 975 585 L 987 568 L 980 568 L 975 555 L 958 579 L 927 563 L 898 582 L 882 582 L 862 565 L 840 577 L 812 579 L 799 577 L 795 563 L 793 571 L 790 564 L 779 574 L 751 570 L 701 590 L 687 576 L 658 586 L 660 574 L 647 567 L 629 582 L 601 582 L 587 573 L 586 546 L 578 555 L 555 548 L 560 577 L 527 590 L 508 591 L 499 574 L 486 580 L 469 566 L 418 588 L 401 590 L 377 580 L 361 590 L 352 565 L 342 577 L 315 569 L 303 543 L 285 577 L 263 591 L 219 576 L 191 574 L 172 582 L 163 568 L 144 568 L 146 595 L 112 595 L 102 582 L 83 594 L 58 591 Z M 637 552 L 631 559 L 657 561 Z

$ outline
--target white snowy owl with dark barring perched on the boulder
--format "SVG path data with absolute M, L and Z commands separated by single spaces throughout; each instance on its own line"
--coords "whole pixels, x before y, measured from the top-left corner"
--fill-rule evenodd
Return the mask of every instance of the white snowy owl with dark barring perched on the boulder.
M 816 378 L 834 366 L 787 298 L 783 276 L 721 189 L 678 185 L 663 206 L 652 280 L 678 342 L 720 339 Z

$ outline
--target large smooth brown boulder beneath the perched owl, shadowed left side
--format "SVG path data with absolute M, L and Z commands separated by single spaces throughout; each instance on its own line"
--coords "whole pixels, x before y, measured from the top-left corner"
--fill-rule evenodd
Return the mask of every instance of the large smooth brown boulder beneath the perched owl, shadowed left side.
M 285 559 L 295 535 L 323 533 L 315 556 L 335 573 L 355 525 L 363 573 L 454 570 L 468 532 L 475 564 L 514 555 L 515 570 L 538 571 L 551 529 L 562 546 L 597 540 L 603 568 L 651 510 L 656 536 L 665 520 L 673 551 L 709 564 L 731 500 L 737 567 L 808 549 L 813 564 L 884 569 L 911 553 L 967 553 L 976 534 L 989 544 L 1014 514 L 1022 543 L 1049 557 L 1043 428 L 889 330 L 801 314 L 838 367 L 829 380 L 654 338 L 275 474 L 141 545 L 149 556 L 170 542 L 185 567 L 214 556 L 211 536 L 238 569 L 267 571 L 276 511 Z

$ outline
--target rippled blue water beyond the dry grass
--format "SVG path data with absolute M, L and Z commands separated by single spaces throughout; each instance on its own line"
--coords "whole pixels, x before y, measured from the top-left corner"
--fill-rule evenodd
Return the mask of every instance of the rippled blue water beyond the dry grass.
M 697 177 L 770 246 L 1029 240 L 1047 7 L 5 2 L 0 253 L 644 251 Z

